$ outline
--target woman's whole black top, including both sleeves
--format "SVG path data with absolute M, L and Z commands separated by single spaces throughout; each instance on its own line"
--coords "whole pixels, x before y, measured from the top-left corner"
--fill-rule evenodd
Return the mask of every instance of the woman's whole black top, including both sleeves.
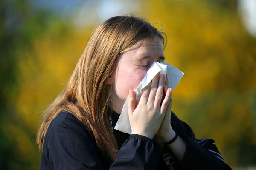
M 109 167 L 103 163 L 95 138 L 70 113 L 62 111 L 50 124 L 44 138 L 41 170 L 230 170 L 214 140 L 195 139 L 189 125 L 172 113 L 171 125 L 186 142 L 181 161 L 169 147 L 160 151 L 154 140 L 145 136 L 122 133 L 113 129 L 119 118 L 110 115 L 110 125 L 118 143 L 116 161 Z

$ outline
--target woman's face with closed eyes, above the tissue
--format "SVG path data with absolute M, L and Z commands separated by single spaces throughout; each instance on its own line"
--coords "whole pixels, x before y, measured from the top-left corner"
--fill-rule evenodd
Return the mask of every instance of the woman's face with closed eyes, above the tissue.
M 153 62 L 164 61 L 163 42 L 160 38 L 141 40 L 129 51 L 121 54 L 112 74 L 111 108 L 121 113 L 130 89 L 136 89 Z

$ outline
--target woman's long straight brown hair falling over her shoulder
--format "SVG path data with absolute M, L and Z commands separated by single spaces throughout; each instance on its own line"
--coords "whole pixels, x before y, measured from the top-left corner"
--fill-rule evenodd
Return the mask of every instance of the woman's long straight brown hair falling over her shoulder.
M 138 41 L 166 36 L 147 21 L 134 16 L 116 16 L 99 25 L 92 34 L 64 90 L 44 111 L 37 134 L 42 148 L 52 120 L 61 111 L 76 116 L 96 139 L 106 162 L 116 159 L 116 141 L 108 120 L 111 85 L 105 80 L 113 72 L 121 53 Z M 113 142 L 114 141 L 114 142 Z

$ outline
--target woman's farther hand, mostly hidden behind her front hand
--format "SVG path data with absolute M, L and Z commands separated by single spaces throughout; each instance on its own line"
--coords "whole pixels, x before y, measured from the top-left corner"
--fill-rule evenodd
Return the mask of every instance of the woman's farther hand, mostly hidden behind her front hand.
M 170 95 L 171 99 L 166 109 L 166 114 L 163 118 L 163 122 L 157 132 L 157 135 L 162 139 L 163 142 L 168 142 L 175 136 L 175 132 L 171 126 L 171 110 L 172 110 L 172 88 L 168 88 L 164 85 L 164 94 Z

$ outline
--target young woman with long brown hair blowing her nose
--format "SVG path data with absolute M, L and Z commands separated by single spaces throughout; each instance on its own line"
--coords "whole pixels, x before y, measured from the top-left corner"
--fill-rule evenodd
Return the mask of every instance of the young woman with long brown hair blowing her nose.
M 147 21 L 112 17 L 94 31 L 61 94 L 44 112 L 41 170 L 228 170 L 212 139 L 197 140 L 171 112 L 172 89 L 157 74 L 134 89 L 166 44 Z M 131 135 L 113 129 L 129 100 Z

